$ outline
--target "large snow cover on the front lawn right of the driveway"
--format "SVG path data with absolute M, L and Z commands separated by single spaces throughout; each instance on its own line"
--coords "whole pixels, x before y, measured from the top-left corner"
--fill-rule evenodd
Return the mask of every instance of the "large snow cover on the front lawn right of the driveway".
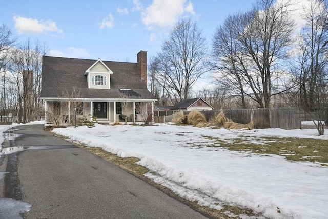
M 216 209 L 236 205 L 269 218 L 328 218 L 327 167 L 288 161 L 274 154 L 229 151 L 206 137 L 224 141 L 241 137 L 257 144 L 263 143 L 262 136 L 328 140 L 327 133 L 318 136 L 316 129 L 97 124 L 93 128 L 58 128 L 53 132 L 121 157 L 138 157 L 138 164 L 151 171 L 147 177 L 201 205 Z

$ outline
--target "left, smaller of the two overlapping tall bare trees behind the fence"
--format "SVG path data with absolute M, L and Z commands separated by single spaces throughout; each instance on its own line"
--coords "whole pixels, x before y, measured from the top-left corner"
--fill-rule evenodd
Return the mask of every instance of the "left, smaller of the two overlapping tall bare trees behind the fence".
M 242 108 L 247 108 L 246 82 L 241 72 L 247 70 L 245 55 L 241 53 L 241 45 L 238 41 L 239 34 L 246 28 L 247 24 L 241 14 L 228 16 L 224 23 L 216 29 L 213 38 L 213 62 L 215 71 L 214 78 L 218 84 L 229 89 L 230 93 L 238 96 L 237 101 Z M 237 97 L 237 98 L 238 98 Z

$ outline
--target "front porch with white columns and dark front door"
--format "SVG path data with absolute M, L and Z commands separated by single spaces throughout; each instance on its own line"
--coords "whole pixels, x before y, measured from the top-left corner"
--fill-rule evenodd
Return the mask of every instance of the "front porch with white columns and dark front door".
M 87 118 L 92 121 L 97 120 L 101 124 L 128 123 L 142 124 L 154 121 L 154 102 L 149 100 L 122 99 L 115 101 L 97 100 L 65 100 L 56 99 L 45 100 L 45 120 L 46 125 L 51 125 L 50 115 L 60 115 L 65 123 L 74 124 L 80 118 Z

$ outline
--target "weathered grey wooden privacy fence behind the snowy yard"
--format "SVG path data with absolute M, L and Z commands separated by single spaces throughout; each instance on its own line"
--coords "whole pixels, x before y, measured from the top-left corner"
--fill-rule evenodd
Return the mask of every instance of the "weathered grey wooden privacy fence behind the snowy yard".
M 201 111 L 207 121 L 219 114 L 219 110 Z M 298 108 L 257 108 L 257 109 L 225 109 L 223 113 L 236 123 L 262 121 L 268 128 L 299 129 L 301 128 L 300 111 Z M 154 117 L 155 123 L 171 122 L 174 115 Z

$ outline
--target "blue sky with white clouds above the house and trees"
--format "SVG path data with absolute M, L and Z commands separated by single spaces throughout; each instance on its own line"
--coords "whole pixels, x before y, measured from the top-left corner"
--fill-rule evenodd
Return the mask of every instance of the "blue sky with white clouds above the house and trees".
M 197 21 L 211 49 L 212 35 L 229 14 L 255 0 L 0 0 L 0 23 L 18 37 L 45 42 L 49 55 L 136 62 L 160 52 L 182 17 Z

